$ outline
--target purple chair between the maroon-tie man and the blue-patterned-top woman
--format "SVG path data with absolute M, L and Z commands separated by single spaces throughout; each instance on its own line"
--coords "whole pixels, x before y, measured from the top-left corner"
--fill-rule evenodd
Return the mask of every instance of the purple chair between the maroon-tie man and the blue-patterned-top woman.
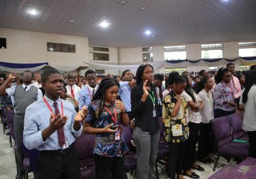
M 96 178 L 95 167 L 93 162 L 93 148 L 95 143 L 95 135 L 81 134 L 75 141 L 75 147 L 79 153 L 79 164 L 81 169 L 81 178 Z

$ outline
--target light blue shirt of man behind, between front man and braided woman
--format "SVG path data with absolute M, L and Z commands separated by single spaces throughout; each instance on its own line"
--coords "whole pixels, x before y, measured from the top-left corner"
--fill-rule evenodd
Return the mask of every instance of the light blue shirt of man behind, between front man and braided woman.
M 86 108 L 88 108 L 88 106 L 91 104 L 93 89 L 95 89 L 95 93 L 96 93 L 98 87 L 99 87 L 98 84 L 95 86 L 95 88 L 86 86 L 85 88 L 83 88 L 80 91 L 79 101 L 78 101 L 79 102 L 79 110 L 81 110 L 84 105 L 86 106 Z

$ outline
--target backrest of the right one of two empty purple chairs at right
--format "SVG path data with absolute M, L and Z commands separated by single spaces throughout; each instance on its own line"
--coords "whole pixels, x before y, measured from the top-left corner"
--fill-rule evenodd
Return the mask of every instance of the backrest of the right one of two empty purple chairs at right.
M 243 130 L 243 119 L 241 114 L 234 113 L 227 116 L 228 123 L 231 127 L 232 132 L 232 138 L 237 139 L 239 137 L 244 136 L 244 130 Z

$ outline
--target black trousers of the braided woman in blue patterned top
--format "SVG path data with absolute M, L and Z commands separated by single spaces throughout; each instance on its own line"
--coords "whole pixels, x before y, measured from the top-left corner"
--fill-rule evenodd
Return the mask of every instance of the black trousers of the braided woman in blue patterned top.
M 97 179 L 125 179 L 124 159 L 125 157 L 104 157 L 94 155 L 95 171 Z

